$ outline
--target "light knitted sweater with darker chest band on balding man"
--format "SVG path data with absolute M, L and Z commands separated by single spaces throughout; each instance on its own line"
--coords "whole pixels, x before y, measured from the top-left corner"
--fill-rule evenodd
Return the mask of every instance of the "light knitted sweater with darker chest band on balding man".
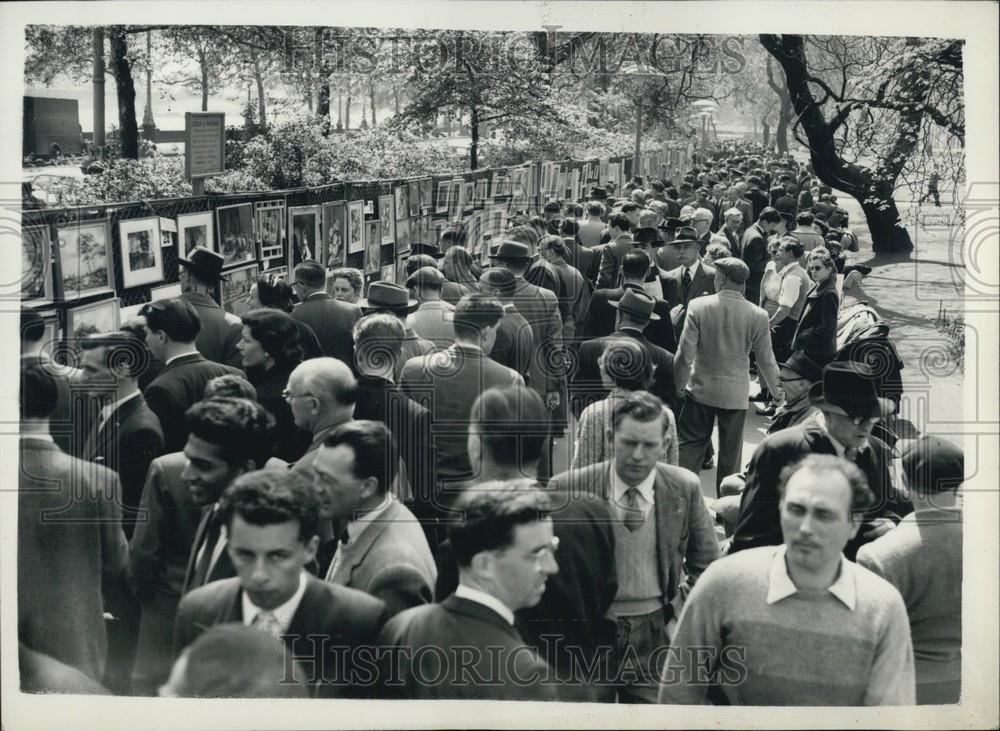
M 899 592 L 844 560 L 841 586 L 853 594 L 853 610 L 830 591 L 768 604 L 772 563 L 783 557 L 784 546 L 763 546 L 705 570 L 681 613 L 660 702 L 701 703 L 711 678 L 733 705 L 913 704 L 913 648 Z

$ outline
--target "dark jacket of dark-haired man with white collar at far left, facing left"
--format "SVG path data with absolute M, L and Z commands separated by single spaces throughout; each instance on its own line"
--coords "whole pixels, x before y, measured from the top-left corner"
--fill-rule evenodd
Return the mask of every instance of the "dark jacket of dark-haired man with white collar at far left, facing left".
M 85 460 L 118 473 L 122 484 L 122 528 L 128 538 L 132 537 L 149 463 L 161 454 L 160 420 L 142 394 L 122 404 L 100 428 L 95 427 L 84 445 Z

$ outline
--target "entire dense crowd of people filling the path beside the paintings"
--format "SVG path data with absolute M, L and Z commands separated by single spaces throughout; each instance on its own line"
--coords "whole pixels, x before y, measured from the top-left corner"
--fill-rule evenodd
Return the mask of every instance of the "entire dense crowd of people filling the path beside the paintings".
M 727 145 L 467 243 L 332 294 L 304 260 L 242 317 L 198 247 L 78 367 L 22 312 L 23 689 L 958 701 L 962 453 L 897 447 L 807 165 Z

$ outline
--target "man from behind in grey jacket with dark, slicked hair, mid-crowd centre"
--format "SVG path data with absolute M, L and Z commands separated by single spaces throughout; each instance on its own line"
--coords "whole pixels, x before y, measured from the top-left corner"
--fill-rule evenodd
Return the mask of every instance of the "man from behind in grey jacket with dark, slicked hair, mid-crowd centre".
M 487 388 L 524 385 L 514 370 L 489 358 L 503 306 L 492 297 L 470 294 L 455 308 L 455 344 L 411 358 L 403 368 L 403 393 L 431 413 L 431 435 L 439 489 L 472 476 L 466 442 L 469 405 Z

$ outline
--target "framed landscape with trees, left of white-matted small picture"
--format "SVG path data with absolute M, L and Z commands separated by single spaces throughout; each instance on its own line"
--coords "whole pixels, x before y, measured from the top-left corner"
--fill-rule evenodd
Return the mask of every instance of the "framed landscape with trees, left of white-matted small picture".
M 111 223 L 107 219 L 56 229 L 60 281 L 57 296 L 75 300 L 114 290 Z

